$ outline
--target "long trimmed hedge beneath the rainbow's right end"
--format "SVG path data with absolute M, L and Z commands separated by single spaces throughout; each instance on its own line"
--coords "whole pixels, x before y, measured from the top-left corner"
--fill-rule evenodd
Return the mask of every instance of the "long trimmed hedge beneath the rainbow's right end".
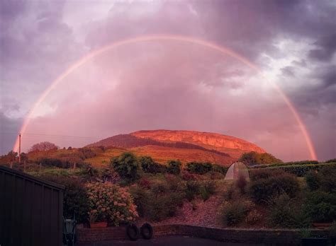
M 319 170 L 320 168 L 323 167 L 335 167 L 336 168 L 336 163 L 331 163 L 331 164 L 308 164 L 308 165 L 283 165 L 283 166 L 271 166 L 267 169 L 271 170 L 284 170 L 285 172 L 289 172 L 293 175 L 296 175 L 298 177 L 303 177 L 306 175 L 306 173 L 310 170 Z M 254 172 L 254 170 L 260 170 L 264 168 L 253 168 L 250 169 L 250 172 Z

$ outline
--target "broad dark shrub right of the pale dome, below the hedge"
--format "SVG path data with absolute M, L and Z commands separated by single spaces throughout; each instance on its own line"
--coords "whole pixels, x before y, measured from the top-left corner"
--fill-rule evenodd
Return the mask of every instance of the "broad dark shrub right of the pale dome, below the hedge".
M 248 187 L 250 197 L 257 203 L 267 203 L 279 194 L 288 194 L 295 197 L 299 191 L 298 180 L 286 172 L 269 176 L 269 171 L 259 172 L 259 180 L 252 180 Z M 255 178 L 255 177 L 254 177 Z

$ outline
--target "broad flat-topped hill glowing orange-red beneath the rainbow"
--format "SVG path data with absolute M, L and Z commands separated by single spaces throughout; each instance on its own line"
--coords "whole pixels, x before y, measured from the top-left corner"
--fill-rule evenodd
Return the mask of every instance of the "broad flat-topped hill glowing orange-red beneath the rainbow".
M 179 159 L 183 163 L 210 161 L 229 165 L 242 153 L 265 152 L 259 146 L 243 139 L 199 131 L 135 131 L 111 136 L 86 147 L 96 146 L 124 148 L 138 156 L 152 156 L 159 163 Z

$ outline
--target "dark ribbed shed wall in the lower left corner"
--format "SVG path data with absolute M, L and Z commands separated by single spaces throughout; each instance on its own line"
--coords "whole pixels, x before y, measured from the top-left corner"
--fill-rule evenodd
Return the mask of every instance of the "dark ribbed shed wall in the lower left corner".
M 62 245 L 63 190 L 0 166 L 0 245 Z

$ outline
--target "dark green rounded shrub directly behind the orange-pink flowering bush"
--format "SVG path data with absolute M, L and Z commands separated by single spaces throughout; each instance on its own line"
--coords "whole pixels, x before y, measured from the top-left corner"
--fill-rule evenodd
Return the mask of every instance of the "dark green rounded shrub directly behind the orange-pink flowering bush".
M 138 177 L 138 160 L 133 153 L 123 153 L 118 158 L 112 158 L 111 165 L 118 174 L 128 180 Z

